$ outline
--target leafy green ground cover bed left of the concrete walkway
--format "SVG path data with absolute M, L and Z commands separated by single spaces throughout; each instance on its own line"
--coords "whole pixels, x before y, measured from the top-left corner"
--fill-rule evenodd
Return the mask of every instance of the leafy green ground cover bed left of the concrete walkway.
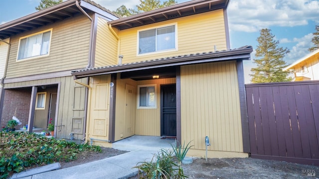
M 77 159 L 79 153 L 88 151 L 101 152 L 101 148 L 46 138 L 34 133 L 2 131 L 0 132 L 0 179 L 28 168 L 59 161 L 72 161 Z

